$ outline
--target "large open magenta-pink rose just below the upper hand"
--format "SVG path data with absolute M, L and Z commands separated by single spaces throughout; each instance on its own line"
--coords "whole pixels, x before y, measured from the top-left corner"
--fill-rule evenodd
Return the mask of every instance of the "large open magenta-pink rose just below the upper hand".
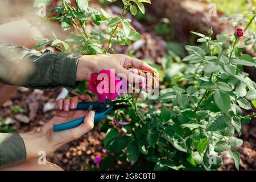
M 98 100 L 104 102 L 106 98 L 114 100 L 118 96 L 116 85 L 121 80 L 117 80 L 114 73 L 103 69 L 99 75 L 92 73 L 89 81 L 90 92 L 98 94 Z

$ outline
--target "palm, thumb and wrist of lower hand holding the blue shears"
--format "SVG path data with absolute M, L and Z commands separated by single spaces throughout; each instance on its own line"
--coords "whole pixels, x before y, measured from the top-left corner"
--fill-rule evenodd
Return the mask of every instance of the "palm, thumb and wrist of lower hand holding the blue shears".
M 65 131 L 53 132 L 52 130 L 55 124 L 72 121 L 85 115 L 84 122 L 80 126 Z M 79 139 L 93 129 L 93 123 L 94 111 L 57 111 L 57 114 L 38 133 L 20 134 L 26 147 L 26 160 L 38 158 L 40 151 L 46 152 L 46 155 L 51 154 L 63 144 Z

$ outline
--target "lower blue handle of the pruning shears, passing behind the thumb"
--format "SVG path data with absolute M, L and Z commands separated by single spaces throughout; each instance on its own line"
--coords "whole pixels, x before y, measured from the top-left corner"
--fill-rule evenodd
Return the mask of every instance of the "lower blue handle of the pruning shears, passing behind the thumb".
M 94 121 L 104 119 L 105 117 L 106 117 L 105 112 L 104 113 L 95 113 Z M 77 126 L 81 125 L 81 123 L 84 122 L 84 118 L 85 117 L 82 117 L 82 118 L 75 119 L 73 121 L 69 121 L 67 123 L 54 125 L 53 126 L 53 131 L 63 131 L 63 130 L 73 129 L 74 127 L 77 127 Z

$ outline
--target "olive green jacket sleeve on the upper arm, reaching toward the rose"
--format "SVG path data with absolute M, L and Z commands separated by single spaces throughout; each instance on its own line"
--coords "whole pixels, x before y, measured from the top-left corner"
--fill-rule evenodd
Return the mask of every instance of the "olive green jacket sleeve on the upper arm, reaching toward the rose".
M 0 83 L 31 89 L 75 89 L 79 57 L 0 43 Z

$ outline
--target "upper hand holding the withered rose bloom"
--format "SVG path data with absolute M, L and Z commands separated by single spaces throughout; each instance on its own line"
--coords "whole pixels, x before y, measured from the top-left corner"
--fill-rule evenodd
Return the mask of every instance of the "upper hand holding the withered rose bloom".
M 116 54 L 116 55 L 88 55 L 81 56 L 77 67 L 76 80 L 77 81 L 90 81 L 92 73 L 100 73 L 102 69 L 114 69 L 115 75 L 124 73 L 129 82 L 142 82 L 144 77 L 135 75 L 127 71 L 124 67 L 133 66 L 135 68 L 158 72 L 150 65 L 142 60 L 135 59 L 130 56 Z

